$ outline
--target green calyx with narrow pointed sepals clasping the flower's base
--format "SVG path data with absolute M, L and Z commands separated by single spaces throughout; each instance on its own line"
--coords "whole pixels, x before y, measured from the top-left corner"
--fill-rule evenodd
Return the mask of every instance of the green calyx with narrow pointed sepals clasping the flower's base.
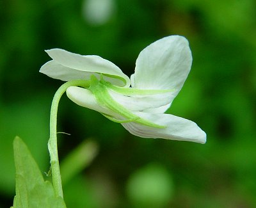
M 147 125 L 150 127 L 165 128 L 165 126 L 163 125 L 154 124 L 153 122 L 140 118 L 140 116 L 134 115 L 134 113 L 129 111 L 129 109 L 124 108 L 124 106 L 116 102 L 111 97 L 111 95 L 109 95 L 109 92 L 108 92 L 108 90 L 110 89 L 118 93 L 123 93 L 124 95 L 138 95 L 138 94 L 148 95 L 152 93 L 164 93 L 163 90 L 161 90 L 161 92 L 159 92 L 160 90 L 156 90 L 158 92 L 154 92 L 155 90 L 144 91 L 144 90 L 136 90 L 136 89 L 134 90 L 132 88 L 118 88 L 117 86 L 113 86 L 111 83 L 104 81 L 102 76 L 100 77 L 100 81 L 99 81 L 97 77 L 93 75 L 91 76 L 90 87 L 88 89 L 93 93 L 93 95 L 97 99 L 97 102 L 99 102 L 100 105 L 105 106 L 111 111 L 114 111 L 115 113 L 118 113 L 120 116 L 126 118 L 125 120 L 118 120 L 116 118 L 113 118 L 113 116 L 102 113 L 102 115 L 106 116 L 106 118 L 108 118 L 109 120 L 112 120 L 113 122 L 117 122 L 117 123 L 136 122 L 138 124 Z

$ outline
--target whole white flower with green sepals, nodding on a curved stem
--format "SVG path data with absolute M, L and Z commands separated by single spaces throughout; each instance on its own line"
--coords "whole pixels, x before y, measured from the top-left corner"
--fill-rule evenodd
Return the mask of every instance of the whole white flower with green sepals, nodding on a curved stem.
M 148 45 L 136 60 L 131 81 L 100 56 L 81 56 L 63 49 L 46 52 L 52 60 L 40 72 L 63 81 L 90 80 L 88 87 L 67 88 L 69 99 L 76 104 L 99 111 L 136 136 L 205 143 L 205 132 L 194 122 L 164 113 L 191 68 L 186 38 L 167 36 Z

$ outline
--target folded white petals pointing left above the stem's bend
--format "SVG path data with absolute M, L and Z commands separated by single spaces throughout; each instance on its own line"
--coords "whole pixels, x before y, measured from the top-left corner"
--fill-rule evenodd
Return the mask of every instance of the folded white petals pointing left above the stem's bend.
M 94 72 L 97 74 L 103 74 L 105 77 L 110 77 L 113 83 L 113 80 L 117 79 L 113 84 L 118 83 L 118 86 L 130 86 L 131 81 L 129 77 L 127 77 L 120 68 L 118 68 L 114 63 L 111 61 L 105 60 L 100 56 L 82 56 L 80 54 L 74 54 L 72 52 L 65 51 L 63 49 L 51 49 L 46 51 L 47 54 L 54 60 L 54 65 L 56 66 L 57 63 L 62 65 L 63 67 L 69 68 L 69 70 L 65 70 L 62 72 L 61 79 L 65 78 L 65 80 L 71 80 L 70 75 L 74 76 L 77 74 L 77 77 L 81 76 L 81 72 L 84 73 L 84 76 L 80 77 L 79 79 L 87 79 L 88 72 L 89 75 Z M 52 64 L 52 63 L 51 63 Z M 56 74 L 56 72 L 52 72 L 49 70 L 48 67 L 51 65 L 47 64 L 44 65 L 40 72 L 46 74 L 47 76 L 52 77 L 52 74 Z M 54 70 L 63 70 L 63 68 L 54 67 Z M 70 74 L 70 70 L 73 70 Z M 60 72 L 57 72 L 57 74 Z M 86 78 L 84 78 L 86 77 Z M 54 77 L 56 78 L 56 77 Z M 60 79 L 57 77 L 57 79 Z M 108 79 L 105 79 L 108 80 Z M 109 80 L 108 80 L 109 81 Z

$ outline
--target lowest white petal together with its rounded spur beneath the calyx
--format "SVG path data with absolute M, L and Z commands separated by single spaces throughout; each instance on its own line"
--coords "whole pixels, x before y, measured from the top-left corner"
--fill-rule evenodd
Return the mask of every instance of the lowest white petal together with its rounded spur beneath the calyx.
M 100 113 L 109 115 L 116 120 L 127 120 L 127 118 L 120 116 L 118 113 L 104 108 L 104 106 L 100 106 L 90 90 L 77 86 L 70 86 L 67 89 L 67 96 L 79 106 L 99 111 Z M 185 118 L 180 118 L 170 114 L 152 114 L 138 111 L 133 111 L 132 113 L 140 116 L 140 118 L 153 122 L 154 124 L 166 126 L 166 128 L 163 129 L 149 127 L 135 122 L 121 123 L 125 129 L 136 136 L 143 138 L 194 141 L 198 143 L 205 143 L 206 141 L 205 132 L 202 131 L 202 129 L 200 129 L 200 127 L 198 127 L 194 122 Z

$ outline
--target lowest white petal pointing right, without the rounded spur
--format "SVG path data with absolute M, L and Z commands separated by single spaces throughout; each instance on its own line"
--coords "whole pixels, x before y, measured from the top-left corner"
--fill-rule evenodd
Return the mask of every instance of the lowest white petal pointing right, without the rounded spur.
M 148 127 L 147 125 L 129 122 L 122 124 L 127 131 L 142 138 L 163 138 L 167 140 L 206 142 L 206 134 L 195 122 L 170 114 L 134 113 L 143 119 L 150 120 L 166 128 Z

